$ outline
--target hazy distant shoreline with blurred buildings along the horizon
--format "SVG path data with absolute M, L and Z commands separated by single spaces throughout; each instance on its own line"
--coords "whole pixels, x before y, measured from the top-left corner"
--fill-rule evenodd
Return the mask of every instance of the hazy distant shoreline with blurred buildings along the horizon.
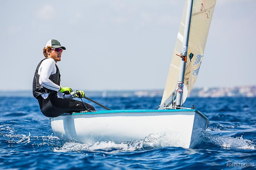
M 105 91 L 86 91 L 87 96 L 91 97 L 162 97 L 164 89 L 157 90 L 105 90 Z M 21 91 L 0 91 L 1 97 L 24 96 L 33 97 L 31 90 Z M 239 87 L 201 87 L 193 88 L 189 97 L 256 97 L 256 85 Z

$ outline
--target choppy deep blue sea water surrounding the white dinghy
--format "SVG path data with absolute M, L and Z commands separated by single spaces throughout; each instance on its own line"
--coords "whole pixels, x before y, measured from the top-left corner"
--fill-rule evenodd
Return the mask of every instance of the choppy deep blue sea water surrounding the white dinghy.
M 161 100 L 92 99 L 111 109 L 157 109 Z M 168 143 L 143 147 L 143 139 L 63 142 L 52 133 L 36 99 L 0 97 L 0 169 L 255 169 L 256 98 L 188 98 L 185 107 L 193 104 L 210 125 L 196 148 L 184 149 Z

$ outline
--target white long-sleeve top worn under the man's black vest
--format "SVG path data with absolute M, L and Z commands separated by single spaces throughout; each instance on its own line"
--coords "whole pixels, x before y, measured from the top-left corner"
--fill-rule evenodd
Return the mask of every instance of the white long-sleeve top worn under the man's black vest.
M 38 72 L 37 72 L 40 75 L 39 76 L 39 84 L 44 86 L 47 89 L 56 91 L 59 98 L 66 98 L 66 99 L 75 98 L 74 92 L 72 92 L 69 95 L 65 95 L 64 93 L 59 92 L 60 86 L 56 85 L 49 79 L 49 77 L 52 74 L 56 74 L 57 68 L 56 68 L 55 64 L 56 64 L 55 61 L 49 57 L 40 64 Z M 48 97 L 48 95 L 49 95 L 49 93 L 41 94 L 41 96 L 44 99 L 46 99 Z M 63 96 L 63 95 L 65 95 L 65 96 Z

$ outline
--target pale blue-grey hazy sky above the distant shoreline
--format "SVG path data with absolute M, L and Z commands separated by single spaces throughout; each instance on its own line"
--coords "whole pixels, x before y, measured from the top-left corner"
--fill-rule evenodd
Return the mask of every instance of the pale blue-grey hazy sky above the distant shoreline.
M 31 90 L 47 41 L 73 90 L 164 89 L 184 1 L 0 1 L 0 90 Z M 256 85 L 256 1 L 219 0 L 196 87 Z

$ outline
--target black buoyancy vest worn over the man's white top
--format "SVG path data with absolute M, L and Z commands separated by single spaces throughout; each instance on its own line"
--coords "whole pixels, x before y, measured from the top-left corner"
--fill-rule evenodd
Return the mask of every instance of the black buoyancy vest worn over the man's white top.
M 45 58 L 47 59 L 47 58 Z M 38 74 L 38 69 L 41 65 L 41 63 L 45 60 L 41 60 L 40 63 L 37 65 L 36 67 L 36 72 L 34 75 L 34 79 L 33 79 L 33 96 L 36 98 L 39 95 L 43 94 L 43 93 L 57 93 L 57 91 L 51 90 L 51 89 L 47 89 L 46 87 L 40 85 L 39 83 L 39 77 L 40 75 Z M 52 74 L 49 76 L 49 79 L 55 83 L 56 85 L 60 85 L 60 70 L 58 68 L 58 66 L 55 64 L 56 66 L 56 73 Z

